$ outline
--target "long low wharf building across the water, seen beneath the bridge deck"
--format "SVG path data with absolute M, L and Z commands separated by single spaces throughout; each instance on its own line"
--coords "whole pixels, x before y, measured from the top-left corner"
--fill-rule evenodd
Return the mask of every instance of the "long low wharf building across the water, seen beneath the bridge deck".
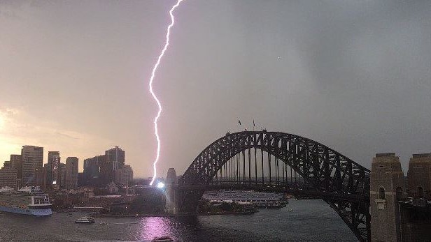
M 240 190 L 208 190 L 202 198 L 211 202 L 232 201 L 252 204 L 255 207 L 285 206 L 283 194 Z

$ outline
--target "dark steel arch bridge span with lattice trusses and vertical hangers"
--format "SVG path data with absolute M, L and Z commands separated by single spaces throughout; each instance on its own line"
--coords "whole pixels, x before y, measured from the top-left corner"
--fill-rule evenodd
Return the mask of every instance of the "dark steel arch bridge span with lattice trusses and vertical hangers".
M 262 173 L 262 179 L 259 181 L 257 181 L 258 162 L 255 160 L 254 167 L 250 164 L 252 149 L 254 153 L 256 149 L 268 153 L 266 167 L 262 155 L 262 166 L 259 172 Z M 241 167 L 239 167 L 241 160 L 235 157 L 241 153 L 246 154 L 246 151 L 249 158 L 248 166 L 246 167 L 247 162 L 243 158 L 243 179 L 235 181 L 232 176 L 240 178 L 238 171 L 241 176 Z M 272 164 L 271 156 L 275 157 Z M 278 160 L 281 160 L 283 182 L 280 181 Z M 271 181 L 271 167 L 276 169 L 275 181 Z M 233 182 L 237 187 L 252 187 L 259 184 L 283 190 L 286 188 L 285 181 L 288 180 L 287 167 L 302 176 L 309 186 L 319 192 L 320 197 L 330 204 L 360 241 L 369 241 L 369 169 L 323 144 L 288 133 L 267 132 L 267 130 L 244 131 L 227 133 L 217 139 L 195 158 L 178 181 L 178 189 L 183 190 L 183 196 L 179 199 L 181 201 L 177 202 L 178 210 L 185 211 L 188 206 L 189 210 L 190 207 L 196 208 L 197 200 L 202 197 L 204 190 L 210 186 L 214 188 L 214 185 L 227 185 Z M 248 177 L 246 177 L 247 172 Z M 266 178 L 264 173 L 267 174 Z M 252 177 L 252 174 L 255 177 Z M 199 192 L 196 192 L 197 190 Z

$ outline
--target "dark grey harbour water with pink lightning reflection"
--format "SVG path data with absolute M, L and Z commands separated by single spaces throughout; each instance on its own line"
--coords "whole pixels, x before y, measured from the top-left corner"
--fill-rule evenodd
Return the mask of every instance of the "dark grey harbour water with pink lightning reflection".
M 150 241 L 155 236 L 175 241 L 357 241 L 322 200 L 290 199 L 284 208 L 248 215 L 95 218 L 94 224 L 74 223 L 83 215 L 54 213 L 35 218 L 3 213 L 0 241 Z

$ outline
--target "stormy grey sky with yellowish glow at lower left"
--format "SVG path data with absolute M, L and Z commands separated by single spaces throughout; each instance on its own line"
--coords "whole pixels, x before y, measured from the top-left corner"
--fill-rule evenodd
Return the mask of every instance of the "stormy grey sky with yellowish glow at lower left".
M 0 0 L 0 164 L 118 145 L 151 176 L 148 80 L 174 1 Z M 431 152 L 431 1 L 185 0 L 154 88 L 160 173 L 229 130 L 309 137 L 370 167 Z M 243 126 L 239 127 L 238 119 Z

